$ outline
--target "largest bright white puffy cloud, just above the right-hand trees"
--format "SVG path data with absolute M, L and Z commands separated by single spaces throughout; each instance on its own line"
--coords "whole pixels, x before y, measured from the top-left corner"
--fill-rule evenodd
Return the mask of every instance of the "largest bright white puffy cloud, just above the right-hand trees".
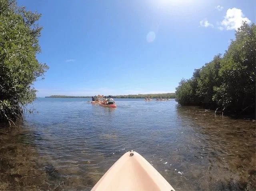
M 221 26 L 219 26 L 218 28 L 220 30 L 237 30 L 242 25 L 242 21 L 246 21 L 248 24 L 251 23 L 251 21 L 247 17 L 244 17 L 241 9 L 228 9 L 224 20 L 222 20 L 222 22 L 220 23 Z

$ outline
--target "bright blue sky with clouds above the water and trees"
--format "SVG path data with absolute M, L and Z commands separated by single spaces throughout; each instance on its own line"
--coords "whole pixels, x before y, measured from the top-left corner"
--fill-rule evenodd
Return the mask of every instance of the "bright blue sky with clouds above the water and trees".
M 255 0 L 18 0 L 42 13 L 37 96 L 175 92 L 224 53 Z

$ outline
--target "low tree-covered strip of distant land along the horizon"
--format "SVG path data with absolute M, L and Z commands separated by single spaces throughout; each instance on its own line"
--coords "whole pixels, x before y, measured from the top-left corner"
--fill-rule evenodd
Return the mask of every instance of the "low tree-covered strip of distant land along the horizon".
M 91 98 L 92 96 L 46 96 L 50 98 Z M 176 98 L 175 93 L 166 93 L 166 94 L 138 94 L 138 95 L 122 95 L 122 96 L 112 96 L 113 98 L 157 98 L 157 97 L 162 97 L 162 98 Z

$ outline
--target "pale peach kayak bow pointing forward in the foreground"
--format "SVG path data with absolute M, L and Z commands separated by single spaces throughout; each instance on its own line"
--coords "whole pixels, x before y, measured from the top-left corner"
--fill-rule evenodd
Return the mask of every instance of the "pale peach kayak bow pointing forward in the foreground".
M 135 151 L 124 153 L 92 188 L 92 191 L 174 191 L 144 157 Z

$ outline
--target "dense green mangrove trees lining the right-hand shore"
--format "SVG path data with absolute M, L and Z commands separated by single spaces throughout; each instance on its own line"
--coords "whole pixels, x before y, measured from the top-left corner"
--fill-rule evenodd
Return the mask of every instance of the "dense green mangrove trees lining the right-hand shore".
M 195 70 L 176 88 L 181 105 L 222 107 L 231 113 L 255 112 L 256 25 L 243 22 L 223 57 Z

